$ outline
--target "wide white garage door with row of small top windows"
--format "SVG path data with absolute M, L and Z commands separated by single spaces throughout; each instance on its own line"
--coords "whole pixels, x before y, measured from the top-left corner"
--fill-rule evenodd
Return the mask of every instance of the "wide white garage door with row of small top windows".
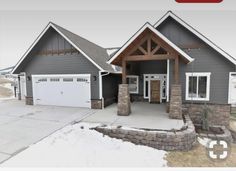
M 91 107 L 90 75 L 33 75 L 35 105 Z

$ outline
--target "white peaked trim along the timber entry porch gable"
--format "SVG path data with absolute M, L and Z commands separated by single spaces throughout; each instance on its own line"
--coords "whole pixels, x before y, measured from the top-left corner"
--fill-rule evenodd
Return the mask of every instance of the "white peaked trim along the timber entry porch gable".
M 179 52 L 184 58 L 186 58 L 189 62 L 192 62 L 194 59 L 191 58 L 187 53 L 185 53 L 183 50 L 181 50 L 178 46 L 176 46 L 174 43 L 172 43 L 167 37 L 165 37 L 163 34 L 161 34 L 158 30 L 156 30 L 150 23 L 144 24 L 141 29 L 139 29 L 138 32 L 136 32 L 117 52 L 116 54 L 109 59 L 108 63 L 111 64 L 112 61 L 114 61 L 118 55 L 121 54 L 127 48 L 127 46 L 132 43 L 145 29 L 150 29 L 153 33 L 155 33 L 157 36 L 159 36 L 162 40 L 164 40 L 166 43 L 168 43 L 172 48 L 174 48 L 177 52 Z

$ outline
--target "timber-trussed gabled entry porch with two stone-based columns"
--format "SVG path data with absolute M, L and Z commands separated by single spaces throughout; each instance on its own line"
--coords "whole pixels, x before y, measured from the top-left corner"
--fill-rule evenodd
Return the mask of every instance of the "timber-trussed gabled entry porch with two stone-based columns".
M 174 61 L 173 73 L 169 73 L 170 60 Z M 113 65 L 122 66 L 118 115 L 129 115 L 131 113 L 130 81 L 129 79 L 127 81 L 127 77 L 138 75 L 141 80 L 144 80 L 144 99 L 147 98 L 152 103 L 161 103 L 162 101 L 169 101 L 170 98 L 170 117 L 182 118 L 182 93 L 179 80 L 180 60 L 185 64 L 193 61 L 189 55 L 168 38 L 149 23 L 146 23 L 109 61 Z M 132 67 L 135 65 L 138 67 Z M 151 71 L 150 68 L 153 70 Z M 169 85 L 170 74 L 173 74 L 171 77 L 173 78 L 171 81 L 173 85 Z M 136 89 L 138 89 L 138 85 Z

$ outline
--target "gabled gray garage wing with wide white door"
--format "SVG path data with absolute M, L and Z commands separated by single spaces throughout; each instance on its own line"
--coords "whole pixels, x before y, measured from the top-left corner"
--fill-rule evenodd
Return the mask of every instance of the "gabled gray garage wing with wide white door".
M 117 77 L 108 59 L 106 49 L 50 22 L 12 73 L 26 104 L 102 108 L 101 79 Z

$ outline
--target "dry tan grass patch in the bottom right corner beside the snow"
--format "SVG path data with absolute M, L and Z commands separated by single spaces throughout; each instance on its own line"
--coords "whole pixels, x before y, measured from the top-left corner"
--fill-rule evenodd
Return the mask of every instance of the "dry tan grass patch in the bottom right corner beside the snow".
M 213 162 L 199 143 L 188 152 L 168 152 L 165 159 L 169 167 L 236 167 L 236 144 L 231 145 L 230 156 L 222 162 Z

